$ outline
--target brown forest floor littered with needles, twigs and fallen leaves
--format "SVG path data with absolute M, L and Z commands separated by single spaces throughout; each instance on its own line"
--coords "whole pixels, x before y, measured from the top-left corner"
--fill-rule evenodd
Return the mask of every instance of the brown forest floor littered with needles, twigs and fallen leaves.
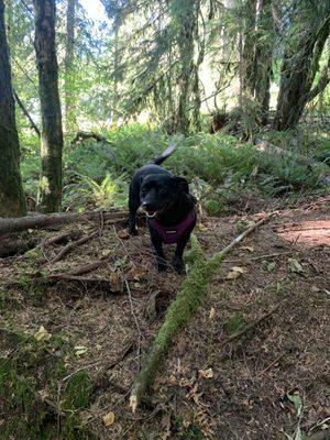
M 133 380 L 183 277 L 155 271 L 143 226 L 31 232 L 98 233 L 57 262 L 65 244 L 0 258 L 0 438 L 329 439 L 329 197 L 305 199 L 226 257 L 135 416 Z M 200 216 L 195 232 L 212 255 L 262 216 Z

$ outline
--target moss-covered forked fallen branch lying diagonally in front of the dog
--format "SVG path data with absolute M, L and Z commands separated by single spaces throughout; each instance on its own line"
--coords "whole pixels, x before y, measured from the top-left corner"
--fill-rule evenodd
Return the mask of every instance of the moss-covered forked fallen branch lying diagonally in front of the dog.
M 164 323 L 156 334 L 148 355 L 145 358 L 142 369 L 135 378 L 130 397 L 130 406 L 133 413 L 135 413 L 143 395 L 151 386 L 153 377 L 169 349 L 173 337 L 187 324 L 191 315 L 197 310 L 200 299 L 222 258 L 232 250 L 232 248 L 271 217 L 272 215 L 265 216 L 262 220 L 238 235 L 227 248 L 216 253 L 210 258 L 205 257 L 197 239 L 193 237 L 191 251 L 189 252 L 188 257 L 189 260 L 194 257 L 195 263 L 187 277 L 184 279 L 175 300 L 168 307 Z

